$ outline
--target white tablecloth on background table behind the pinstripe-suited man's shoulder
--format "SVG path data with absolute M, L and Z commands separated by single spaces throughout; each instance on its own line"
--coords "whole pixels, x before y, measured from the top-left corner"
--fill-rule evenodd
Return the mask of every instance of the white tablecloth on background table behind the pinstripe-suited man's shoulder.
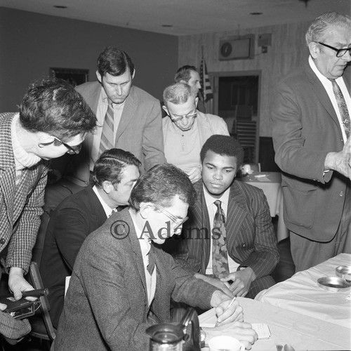
M 270 206 L 270 216 L 279 216 L 277 228 L 277 240 L 281 241 L 289 237 L 283 218 L 283 193 L 282 174 L 279 172 L 254 172 L 241 178 L 244 183 L 263 190 Z

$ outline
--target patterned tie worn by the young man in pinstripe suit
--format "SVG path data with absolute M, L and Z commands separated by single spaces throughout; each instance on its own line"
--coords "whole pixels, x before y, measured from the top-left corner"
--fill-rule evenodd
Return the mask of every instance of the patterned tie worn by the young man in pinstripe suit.
M 220 200 L 216 200 L 217 206 L 215 218 L 213 220 L 213 237 L 212 237 L 212 269 L 213 276 L 218 279 L 226 277 L 229 274 L 227 245 L 225 239 L 225 217 L 223 209 L 220 207 Z

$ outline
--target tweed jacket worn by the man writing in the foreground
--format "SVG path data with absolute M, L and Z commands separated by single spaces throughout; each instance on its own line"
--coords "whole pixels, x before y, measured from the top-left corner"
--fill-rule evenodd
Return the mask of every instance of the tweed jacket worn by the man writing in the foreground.
M 169 322 L 171 298 L 210 307 L 216 288 L 195 279 L 161 249 L 154 251 L 157 285 L 150 306 L 154 317 L 160 323 Z M 147 319 L 147 312 L 143 257 L 133 220 L 124 209 L 81 246 L 54 350 L 148 350 L 145 329 L 155 322 Z

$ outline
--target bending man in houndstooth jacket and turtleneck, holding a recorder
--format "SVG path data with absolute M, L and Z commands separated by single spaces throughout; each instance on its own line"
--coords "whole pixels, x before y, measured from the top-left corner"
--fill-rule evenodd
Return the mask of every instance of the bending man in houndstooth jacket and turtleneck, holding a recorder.
M 0 114 L 1 264 L 8 272 L 8 288 L 15 300 L 22 297 L 22 291 L 33 289 L 23 276 L 28 272 L 43 212 L 46 160 L 79 152 L 95 126 L 90 107 L 62 79 L 35 81 L 25 93 L 19 113 Z M 5 309 L 0 303 L 0 310 Z M 29 330 L 10 314 L 0 312 L 1 335 L 15 339 Z

